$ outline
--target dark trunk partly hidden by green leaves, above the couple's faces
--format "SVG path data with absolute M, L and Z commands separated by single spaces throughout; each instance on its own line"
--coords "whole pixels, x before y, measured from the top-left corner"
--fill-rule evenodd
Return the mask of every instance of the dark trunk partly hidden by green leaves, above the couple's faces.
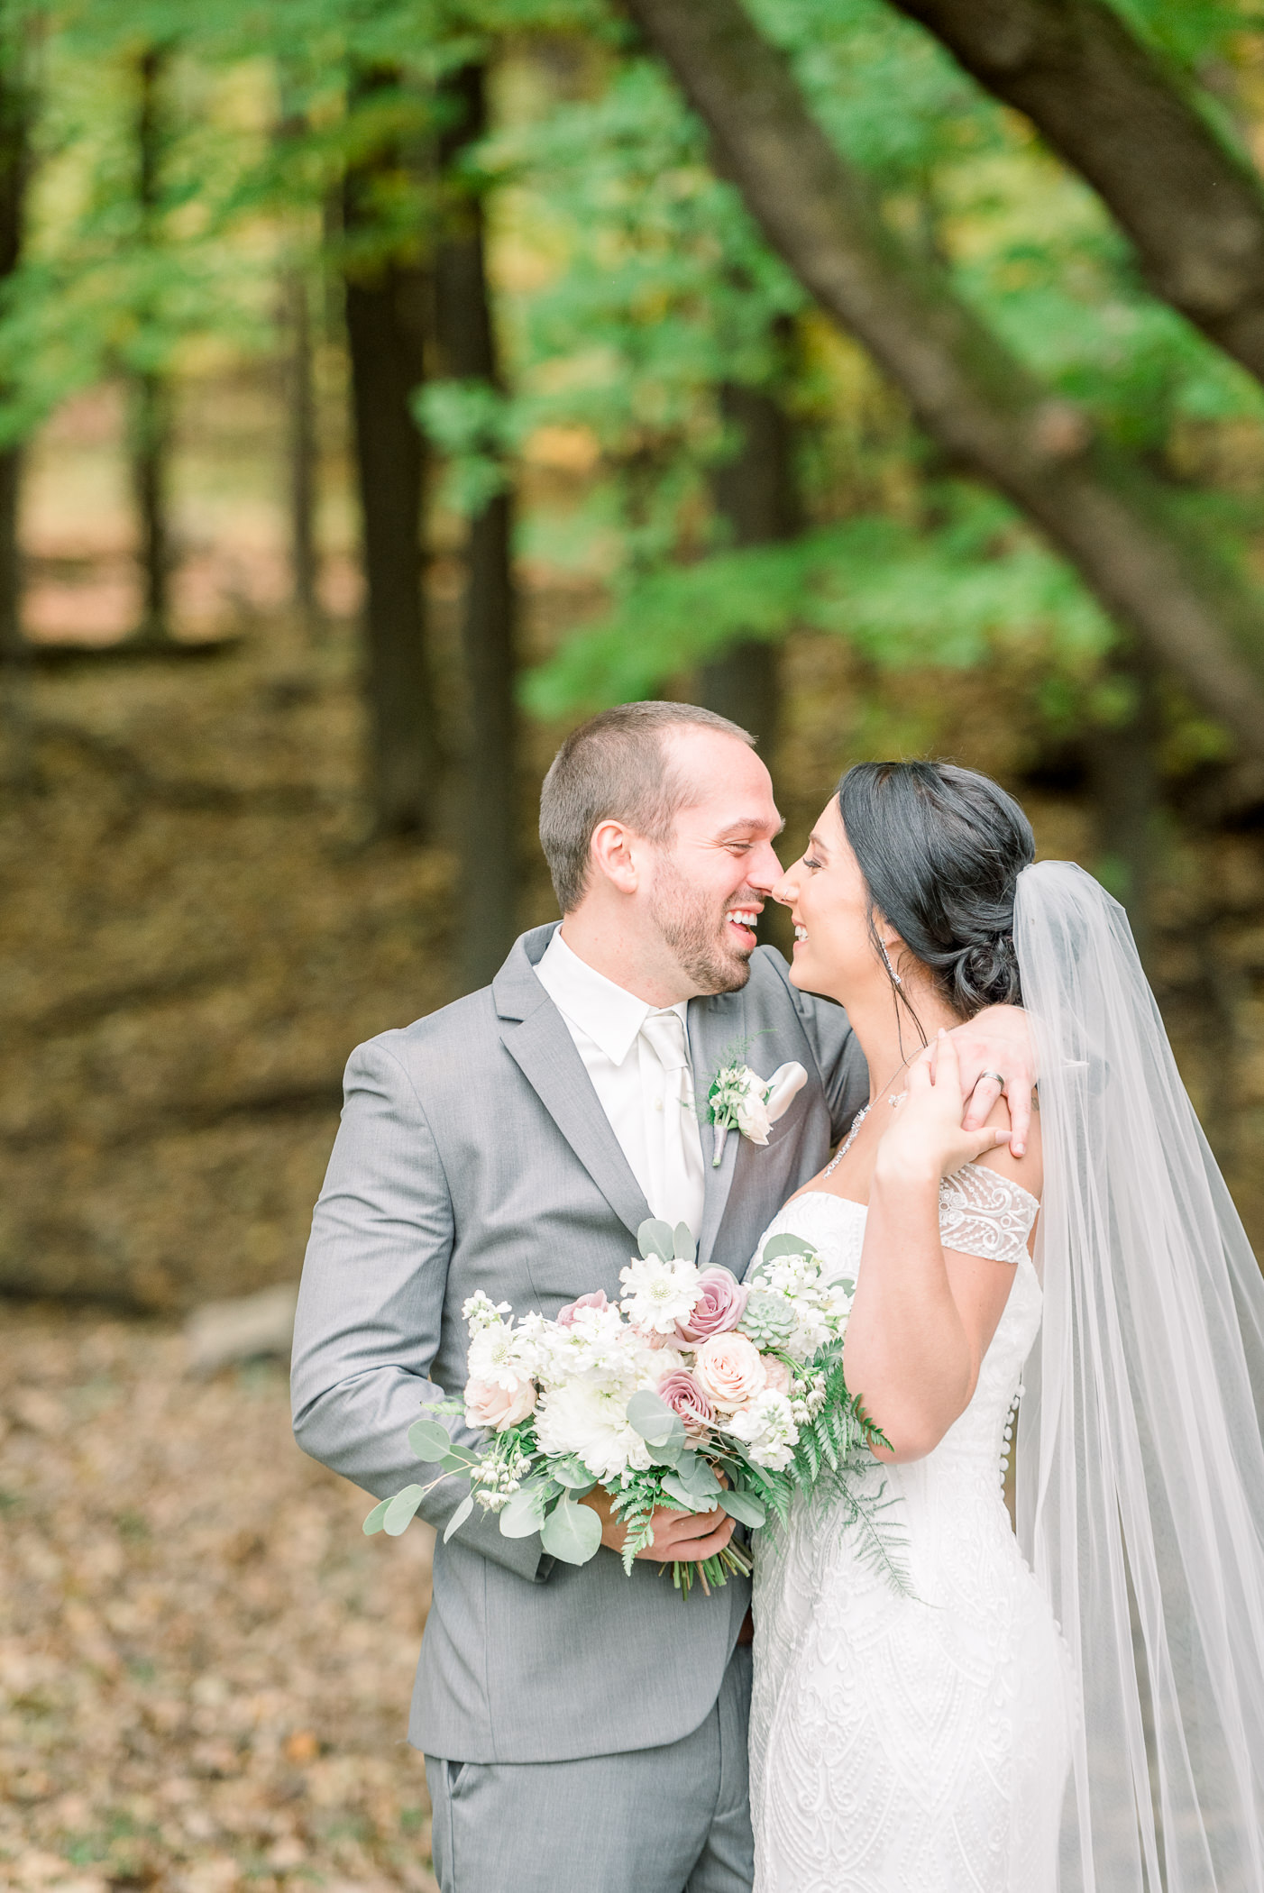
M 729 426 L 740 435 L 732 460 L 715 468 L 711 498 L 729 526 L 730 545 L 768 545 L 800 528 L 795 492 L 791 424 L 772 394 L 742 388 L 721 390 Z M 740 723 L 772 761 L 780 714 L 778 647 L 751 638 L 734 646 L 698 672 L 698 700 Z

